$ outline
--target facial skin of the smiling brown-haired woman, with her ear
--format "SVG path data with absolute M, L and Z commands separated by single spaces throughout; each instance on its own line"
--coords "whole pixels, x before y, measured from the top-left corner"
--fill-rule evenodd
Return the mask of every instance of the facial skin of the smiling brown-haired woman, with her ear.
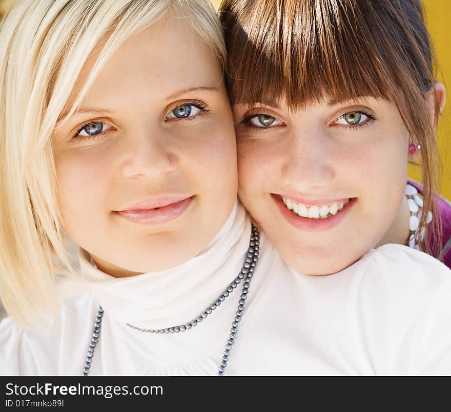
M 441 83 L 436 91 L 443 107 Z M 435 123 L 433 92 L 426 98 Z M 237 104 L 233 111 L 239 197 L 289 265 L 305 274 L 336 273 L 373 247 L 407 241 L 404 190 L 414 139 L 394 103 L 325 99 L 291 111 L 281 99 L 279 107 Z M 337 213 L 346 210 L 337 224 L 319 230 L 290 223 L 276 201 L 280 196 L 353 202 Z

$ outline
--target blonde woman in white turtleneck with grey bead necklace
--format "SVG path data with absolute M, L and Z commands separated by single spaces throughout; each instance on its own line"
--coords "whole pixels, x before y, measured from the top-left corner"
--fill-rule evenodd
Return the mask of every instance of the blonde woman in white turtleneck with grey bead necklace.
M 23 0 L 0 50 L 2 374 L 451 371 L 451 276 L 433 258 L 388 245 L 299 299 L 313 283 L 236 201 L 206 2 Z M 64 234 L 89 290 L 56 303 Z

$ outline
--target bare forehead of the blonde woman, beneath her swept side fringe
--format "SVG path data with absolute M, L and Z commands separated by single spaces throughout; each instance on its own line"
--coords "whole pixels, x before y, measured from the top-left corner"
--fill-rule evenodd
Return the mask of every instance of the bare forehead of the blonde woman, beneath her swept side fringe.
M 109 33 L 88 56 L 67 106 L 71 106 L 107 43 Z M 125 40 L 112 54 L 85 97 L 85 103 L 139 105 L 149 96 L 195 86 L 218 86 L 222 67 L 189 25 L 167 16 Z

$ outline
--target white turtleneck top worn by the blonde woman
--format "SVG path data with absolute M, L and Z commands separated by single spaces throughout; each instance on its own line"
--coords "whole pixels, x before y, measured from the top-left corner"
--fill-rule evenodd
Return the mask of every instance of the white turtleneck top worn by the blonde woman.
M 61 302 L 57 331 L 0 323 L 2 375 L 81 375 L 99 305 L 90 375 L 215 375 L 241 295 L 239 284 L 190 331 L 185 324 L 240 272 L 251 222 L 241 205 L 198 256 L 173 269 L 113 278 L 80 250 L 89 290 Z M 451 373 L 451 271 L 400 245 L 371 250 L 333 275 L 288 267 L 264 234 L 225 375 Z

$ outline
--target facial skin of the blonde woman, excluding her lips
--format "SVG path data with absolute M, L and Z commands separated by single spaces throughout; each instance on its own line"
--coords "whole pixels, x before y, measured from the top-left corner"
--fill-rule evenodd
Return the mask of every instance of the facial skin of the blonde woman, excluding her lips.
M 68 108 L 105 41 L 89 56 Z M 165 16 L 118 48 L 79 111 L 54 131 L 53 146 L 65 230 L 112 276 L 188 261 L 236 201 L 236 142 L 222 66 L 180 18 Z M 168 198 L 191 199 L 169 221 L 140 224 L 118 213 Z

